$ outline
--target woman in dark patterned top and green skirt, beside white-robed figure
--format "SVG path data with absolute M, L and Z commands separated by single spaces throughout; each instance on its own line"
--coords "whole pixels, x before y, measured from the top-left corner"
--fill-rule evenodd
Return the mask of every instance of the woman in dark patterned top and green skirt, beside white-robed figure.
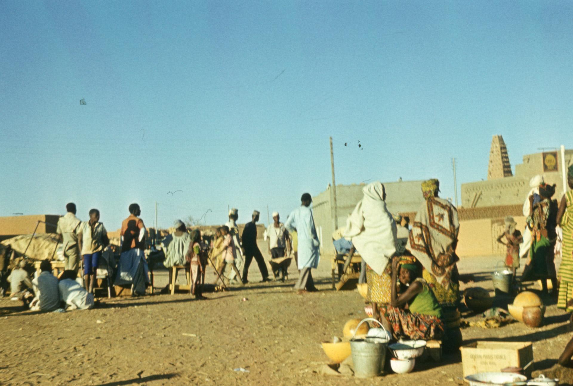
M 527 217 L 527 227 L 531 231 L 531 247 L 527 265 L 521 276 L 522 282 L 541 279 L 545 293 L 547 293 L 547 279 L 551 279 L 553 287 L 557 288 L 554 248 L 557 240 L 555 227 L 558 208 L 557 202 L 551 200 L 554 194 L 555 185 L 542 183 L 539 185 L 541 201 L 533 204 L 533 197 L 529 198 L 531 209 Z

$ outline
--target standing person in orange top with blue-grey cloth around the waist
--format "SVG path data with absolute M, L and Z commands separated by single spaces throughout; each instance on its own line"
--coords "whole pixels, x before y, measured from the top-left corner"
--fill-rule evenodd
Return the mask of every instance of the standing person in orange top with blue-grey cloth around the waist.
M 121 223 L 121 255 L 117 264 L 116 286 L 131 285 L 132 296 L 145 295 L 150 283 L 149 268 L 143 253 L 146 228 L 139 218 L 142 211 L 138 204 L 129 205 L 129 217 Z

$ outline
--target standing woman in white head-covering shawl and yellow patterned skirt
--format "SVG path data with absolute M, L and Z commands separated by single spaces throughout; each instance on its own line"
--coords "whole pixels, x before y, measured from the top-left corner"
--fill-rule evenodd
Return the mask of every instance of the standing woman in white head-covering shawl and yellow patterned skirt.
M 391 267 L 388 262 L 396 252 L 396 223 L 386 208 L 386 192 L 381 182 L 364 186 L 364 197 L 348 217 L 344 237 L 349 238 L 367 264 L 366 301 L 372 303 L 374 317 L 378 303 L 390 302 Z

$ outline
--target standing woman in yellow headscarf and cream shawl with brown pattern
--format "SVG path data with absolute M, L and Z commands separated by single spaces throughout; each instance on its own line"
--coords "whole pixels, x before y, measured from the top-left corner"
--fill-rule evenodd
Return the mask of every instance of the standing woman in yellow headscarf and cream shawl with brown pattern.
M 422 276 L 442 307 L 457 307 L 460 284 L 456 245 L 460 223 L 451 202 L 438 197 L 439 181 L 422 182 L 424 203 L 416 214 L 406 249 L 423 266 Z

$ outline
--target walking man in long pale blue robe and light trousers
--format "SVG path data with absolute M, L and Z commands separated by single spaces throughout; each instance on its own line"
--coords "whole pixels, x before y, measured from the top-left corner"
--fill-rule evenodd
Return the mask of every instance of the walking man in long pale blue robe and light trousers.
M 300 270 L 299 280 L 294 289 L 297 294 L 318 291 L 312 279 L 312 268 L 319 265 L 319 238 L 316 234 L 315 220 L 312 217 L 311 206 L 312 197 L 309 193 L 304 193 L 300 198 L 301 205 L 292 211 L 285 223 L 285 228 L 289 232 L 297 232 L 298 241 L 298 262 Z

